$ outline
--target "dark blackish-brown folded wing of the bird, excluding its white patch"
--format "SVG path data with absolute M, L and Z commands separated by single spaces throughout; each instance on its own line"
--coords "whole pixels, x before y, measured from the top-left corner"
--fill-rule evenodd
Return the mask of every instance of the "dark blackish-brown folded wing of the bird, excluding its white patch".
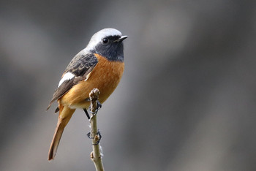
M 56 88 L 53 94 L 53 99 L 50 101 L 47 110 L 50 108 L 53 102 L 61 98 L 61 96 L 64 96 L 64 94 L 66 94 L 70 88 L 72 88 L 72 86 L 75 86 L 81 80 L 85 80 L 86 76 L 89 75 L 97 63 L 98 60 L 93 53 L 78 53 L 78 55 L 76 55 L 72 61 L 70 61 L 67 69 L 64 71 L 64 75 L 67 72 L 71 72 L 73 75 L 75 75 L 75 77 L 72 77 L 72 79 L 69 80 L 64 80 L 64 82 L 61 83 L 58 88 Z

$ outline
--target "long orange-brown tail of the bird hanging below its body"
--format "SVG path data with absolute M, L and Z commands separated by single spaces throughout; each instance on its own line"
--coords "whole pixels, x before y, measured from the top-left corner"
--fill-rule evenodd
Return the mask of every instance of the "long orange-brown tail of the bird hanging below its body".
M 55 133 L 53 135 L 53 140 L 50 144 L 48 160 L 54 159 L 59 145 L 59 141 L 61 140 L 61 135 L 74 112 L 75 110 L 70 109 L 69 107 L 59 105 L 59 119 L 55 129 Z

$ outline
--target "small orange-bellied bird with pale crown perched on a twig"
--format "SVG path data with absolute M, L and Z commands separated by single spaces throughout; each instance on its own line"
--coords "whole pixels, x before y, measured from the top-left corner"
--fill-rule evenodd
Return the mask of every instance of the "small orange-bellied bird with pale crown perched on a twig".
M 50 143 L 48 160 L 54 159 L 64 132 L 76 109 L 86 112 L 90 106 L 89 93 L 99 89 L 99 104 L 105 102 L 118 86 L 124 72 L 123 36 L 115 28 L 104 28 L 95 33 L 89 44 L 81 50 L 64 70 L 47 110 L 57 101 L 59 112 L 53 140 Z

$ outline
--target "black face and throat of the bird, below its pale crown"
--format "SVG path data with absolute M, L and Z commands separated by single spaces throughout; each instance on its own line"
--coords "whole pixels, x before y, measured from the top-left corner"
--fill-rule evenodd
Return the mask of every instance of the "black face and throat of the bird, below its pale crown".
M 110 61 L 124 61 L 124 45 L 122 41 L 116 41 L 120 36 L 110 36 L 102 39 L 95 47 L 93 53 L 105 56 Z

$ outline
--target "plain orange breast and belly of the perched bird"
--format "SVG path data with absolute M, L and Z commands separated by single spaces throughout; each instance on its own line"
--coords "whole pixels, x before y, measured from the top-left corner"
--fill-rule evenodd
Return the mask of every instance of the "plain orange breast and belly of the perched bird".
M 124 62 L 108 61 L 107 58 L 94 54 L 98 63 L 89 78 L 73 86 L 67 94 L 59 99 L 59 103 L 70 108 L 88 108 L 89 93 L 93 88 L 99 89 L 99 102 L 103 103 L 118 86 L 124 72 Z

